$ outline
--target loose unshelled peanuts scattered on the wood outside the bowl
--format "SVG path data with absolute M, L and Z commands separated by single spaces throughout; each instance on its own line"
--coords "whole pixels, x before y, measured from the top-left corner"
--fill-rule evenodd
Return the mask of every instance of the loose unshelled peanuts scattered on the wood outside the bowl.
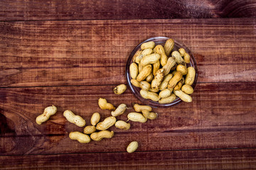
M 120 84 L 114 88 L 114 94 L 122 94 L 127 89 L 125 84 Z M 71 140 L 78 140 L 80 143 L 89 143 L 91 140 L 100 141 L 103 138 L 112 138 L 114 132 L 107 130 L 113 125 L 121 130 L 129 130 L 131 125 L 127 121 L 131 120 L 139 123 L 146 123 L 148 119 L 154 120 L 157 118 L 157 113 L 151 112 L 152 108 L 150 106 L 142 106 L 134 103 L 133 108 L 136 112 L 130 112 L 127 115 L 128 120 L 117 120 L 118 115 L 122 115 L 127 110 L 127 105 L 122 103 L 117 108 L 115 108 L 111 103 L 108 103 L 105 98 L 99 98 L 98 105 L 102 110 L 110 110 L 111 116 L 105 118 L 100 122 L 100 113 L 93 113 L 90 118 L 90 124 L 85 126 L 86 122 L 80 115 L 75 115 L 72 111 L 64 111 L 63 115 L 70 123 L 78 125 L 78 127 L 84 127 L 83 132 L 70 132 L 69 137 Z M 36 118 L 36 123 L 41 125 L 41 123 L 46 122 L 51 115 L 57 112 L 55 106 L 48 106 L 45 108 L 43 114 L 38 115 Z M 97 130 L 97 132 L 96 132 Z M 127 147 L 127 152 L 132 153 L 138 147 L 138 142 L 133 141 Z

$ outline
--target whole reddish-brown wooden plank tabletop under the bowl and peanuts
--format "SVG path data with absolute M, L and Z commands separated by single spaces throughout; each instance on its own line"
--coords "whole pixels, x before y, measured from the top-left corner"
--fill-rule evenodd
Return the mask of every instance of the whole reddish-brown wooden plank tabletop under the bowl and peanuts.
M 0 169 L 256 169 L 255 1 L 1 1 Z M 238 17 L 238 18 L 237 18 Z M 147 38 L 183 42 L 198 64 L 192 103 L 154 108 L 159 118 L 114 127 L 112 139 L 70 140 L 103 118 L 98 98 L 140 103 L 127 84 L 129 53 Z M 58 112 L 42 125 L 47 106 Z M 130 109 L 129 111 L 132 111 Z M 119 116 L 126 120 L 127 111 Z M 137 140 L 137 152 L 128 154 Z

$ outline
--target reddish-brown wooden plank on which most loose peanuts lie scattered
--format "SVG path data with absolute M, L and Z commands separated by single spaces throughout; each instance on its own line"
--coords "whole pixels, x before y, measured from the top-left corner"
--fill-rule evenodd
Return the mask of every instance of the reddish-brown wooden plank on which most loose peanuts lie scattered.
M 82 132 L 82 128 L 68 123 L 63 111 L 74 111 L 90 125 L 94 112 L 101 113 L 102 120 L 110 116 L 110 111 L 97 106 L 100 97 L 107 98 L 114 106 L 127 103 L 132 107 L 132 102 L 139 103 L 129 89 L 117 96 L 112 92 L 114 86 L 1 88 L 1 155 L 122 152 L 132 140 L 141 142 L 139 151 L 256 147 L 254 84 L 198 84 L 192 103 L 154 108 L 159 113 L 157 120 L 131 123 L 129 131 L 112 127 L 110 130 L 115 132 L 112 139 L 86 145 L 68 138 L 68 132 Z M 52 104 L 58 107 L 56 115 L 37 125 L 36 117 Z M 117 119 L 127 120 L 131 111 Z

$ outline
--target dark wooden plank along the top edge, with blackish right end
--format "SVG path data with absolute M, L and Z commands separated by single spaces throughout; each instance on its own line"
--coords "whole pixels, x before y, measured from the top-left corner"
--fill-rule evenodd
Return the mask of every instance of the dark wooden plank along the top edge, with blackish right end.
M 255 17 L 255 1 L 10 1 L 0 21 Z

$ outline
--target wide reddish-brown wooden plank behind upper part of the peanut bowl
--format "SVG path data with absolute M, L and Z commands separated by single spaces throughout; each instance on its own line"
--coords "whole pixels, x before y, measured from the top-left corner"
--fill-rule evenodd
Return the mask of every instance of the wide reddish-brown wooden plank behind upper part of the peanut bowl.
M 256 80 L 255 18 L 0 23 L 0 86 L 125 83 L 139 42 L 166 36 L 186 44 L 199 82 Z

